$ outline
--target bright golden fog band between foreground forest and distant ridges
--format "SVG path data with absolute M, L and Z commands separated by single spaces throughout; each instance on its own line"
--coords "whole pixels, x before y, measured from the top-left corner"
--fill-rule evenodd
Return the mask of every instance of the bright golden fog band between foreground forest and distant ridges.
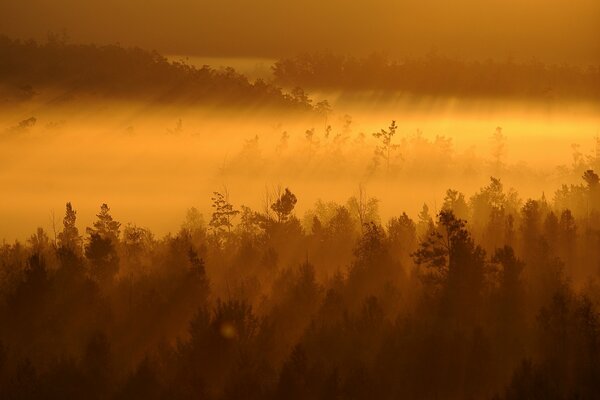
M 551 200 L 561 184 L 580 182 L 573 165 L 596 156 L 600 133 L 594 106 L 316 97 L 334 111 L 294 117 L 93 101 L 5 107 L 0 239 L 22 240 L 40 225 L 52 236 L 52 213 L 60 229 L 67 201 L 80 229 L 106 202 L 120 222 L 162 236 L 179 229 L 190 207 L 210 219 L 211 194 L 224 187 L 233 204 L 255 209 L 267 191 L 289 187 L 300 218 L 317 199 L 345 203 L 359 185 L 381 200 L 383 220 L 402 211 L 415 217 L 423 201 L 437 209 L 448 188 L 469 197 L 490 175 L 522 198 L 544 192 Z M 398 146 L 389 159 L 376 157 L 372 133 L 392 120 Z

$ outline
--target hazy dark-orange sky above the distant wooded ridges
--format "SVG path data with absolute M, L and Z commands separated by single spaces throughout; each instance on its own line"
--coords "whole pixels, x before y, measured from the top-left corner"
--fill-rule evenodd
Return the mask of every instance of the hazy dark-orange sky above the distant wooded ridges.
M 0 34 L 121 43 L 163 54 L 600 63 L 598 0 L 0 0 Z

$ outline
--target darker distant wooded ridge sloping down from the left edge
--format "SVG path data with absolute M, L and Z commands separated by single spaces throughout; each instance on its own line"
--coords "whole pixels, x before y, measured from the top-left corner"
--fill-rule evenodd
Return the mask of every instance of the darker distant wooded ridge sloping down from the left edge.
M 44 44 L 0 36 L 0 101 L 28 100 L 44 92 L 59 95 L 58 100 L 84 95 L 311 108 L 301 90 L 284 93 L 261 80 L 250 82 L 232 68 L 196 68 L 140 48 L 67 44 L 56 36 Z

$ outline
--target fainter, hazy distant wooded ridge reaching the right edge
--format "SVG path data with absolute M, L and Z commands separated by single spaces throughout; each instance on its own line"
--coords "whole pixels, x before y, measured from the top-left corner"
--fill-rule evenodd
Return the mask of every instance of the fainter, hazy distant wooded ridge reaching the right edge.
M 276 83 L 306 89 L 378 90 L 414 95 L 600 99 L 600 66 L 548 65 L 539 61 L 461 61 L 429 55 L 402 61 L 332 53 L 279 60 Z

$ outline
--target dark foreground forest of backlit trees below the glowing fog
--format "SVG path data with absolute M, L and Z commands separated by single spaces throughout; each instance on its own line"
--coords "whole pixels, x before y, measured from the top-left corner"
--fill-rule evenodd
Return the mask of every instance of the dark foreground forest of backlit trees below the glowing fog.
M 597 399 L 600 179 L 383 220 L 214 191 L 175 234 L 77 204 L 0 247 L 0 397 Z M 115 209 L 118 204 L 111 204 Z M 139 204 L 144 207 L 144 204 Z

